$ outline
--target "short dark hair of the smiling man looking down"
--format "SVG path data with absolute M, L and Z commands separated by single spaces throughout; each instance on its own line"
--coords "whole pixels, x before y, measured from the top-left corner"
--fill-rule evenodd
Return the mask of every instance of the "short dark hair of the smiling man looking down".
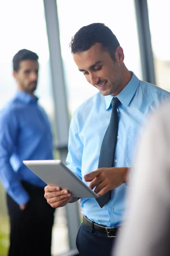
M 71 39 L 71 52 L 85 52 L 96 43 L 101 44 L 102 50 L 108 52 L 113 61 L 116 61 L 114 54 L 120 46 L 119 41 L 103 23 L 92 23 L 79 29 Z

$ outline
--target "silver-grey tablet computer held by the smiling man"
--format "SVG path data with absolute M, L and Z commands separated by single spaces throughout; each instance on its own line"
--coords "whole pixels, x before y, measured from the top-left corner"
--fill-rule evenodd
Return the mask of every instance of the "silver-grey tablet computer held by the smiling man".
M 58 186 L 77 198 L 98 198 L 61 160 L 25 160 L 23 163 L 47 185 Z

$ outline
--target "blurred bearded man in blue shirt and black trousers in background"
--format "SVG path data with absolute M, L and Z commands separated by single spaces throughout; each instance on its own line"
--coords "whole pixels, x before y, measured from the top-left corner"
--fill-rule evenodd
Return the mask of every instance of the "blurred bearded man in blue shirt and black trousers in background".
M 51 127 L 34 95 L 38 55 L 22 49 L 14 55 L 17 92 L 0 111 L 0 179 L 10 218 L 8 256 L 50 256 L 54 209 L 44 198 L 45 183 L 23 160 L 53 159 Z

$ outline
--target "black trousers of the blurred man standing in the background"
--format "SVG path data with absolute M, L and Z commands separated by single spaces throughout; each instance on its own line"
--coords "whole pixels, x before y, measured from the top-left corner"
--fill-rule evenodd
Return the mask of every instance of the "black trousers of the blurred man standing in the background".
M 44 198 L 44 189 L 22 182 L 30 196 L 26 209 L 7 194 L 10 218 L 10 247 L 8 256 L 51 256 L 51 231 L 54 208 Z

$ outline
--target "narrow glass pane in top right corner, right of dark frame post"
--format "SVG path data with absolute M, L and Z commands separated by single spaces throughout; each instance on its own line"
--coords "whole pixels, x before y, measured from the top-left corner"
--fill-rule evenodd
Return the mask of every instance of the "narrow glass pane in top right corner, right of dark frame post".
M 156 85 L 170 91 L 169 1 L 147 0 Z

